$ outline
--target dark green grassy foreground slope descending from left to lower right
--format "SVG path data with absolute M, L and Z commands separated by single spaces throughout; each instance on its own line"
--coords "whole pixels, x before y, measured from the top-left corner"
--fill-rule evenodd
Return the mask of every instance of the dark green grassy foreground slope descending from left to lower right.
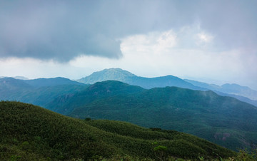
M 88 160 L 114 155 L 155 158 L 153 148 L 158 145 L 166 146 L 166 155 L 173 157 L 235 155 L 185 133 L 109 120 L 78 120 L 26 103 L 0 102 L 0 123 L 0 160 Z

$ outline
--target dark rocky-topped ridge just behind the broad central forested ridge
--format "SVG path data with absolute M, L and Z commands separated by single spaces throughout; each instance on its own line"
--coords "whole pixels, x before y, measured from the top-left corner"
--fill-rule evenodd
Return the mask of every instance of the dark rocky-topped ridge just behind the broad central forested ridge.
M 140 93 L 145 89 L 138 86 L 131 86 L 118 81 L 104 81 L 90 85 L 89 88 L 74 93 L 74 95 L 62 95 L 44 107 L 56 113 L 67 115 L 75 108 L 86 105 L 102 98 L 109 98 L 115 95 L 130 95 Z

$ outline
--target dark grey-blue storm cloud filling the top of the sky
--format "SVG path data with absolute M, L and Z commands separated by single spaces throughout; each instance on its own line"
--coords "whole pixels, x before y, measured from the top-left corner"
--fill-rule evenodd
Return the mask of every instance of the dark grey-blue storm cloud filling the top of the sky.
M 199 21 L 222 48 L 256 51 L 256 1 L 0 1 L 0 56 L 120 58 L 119 38 Z

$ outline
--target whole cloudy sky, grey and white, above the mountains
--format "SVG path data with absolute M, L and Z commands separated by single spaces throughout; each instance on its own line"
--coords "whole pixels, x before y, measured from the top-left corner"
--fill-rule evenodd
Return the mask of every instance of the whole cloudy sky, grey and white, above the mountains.
M 257 1 L 0 0 L 0 76 L 104 68 L 257 90 Z

